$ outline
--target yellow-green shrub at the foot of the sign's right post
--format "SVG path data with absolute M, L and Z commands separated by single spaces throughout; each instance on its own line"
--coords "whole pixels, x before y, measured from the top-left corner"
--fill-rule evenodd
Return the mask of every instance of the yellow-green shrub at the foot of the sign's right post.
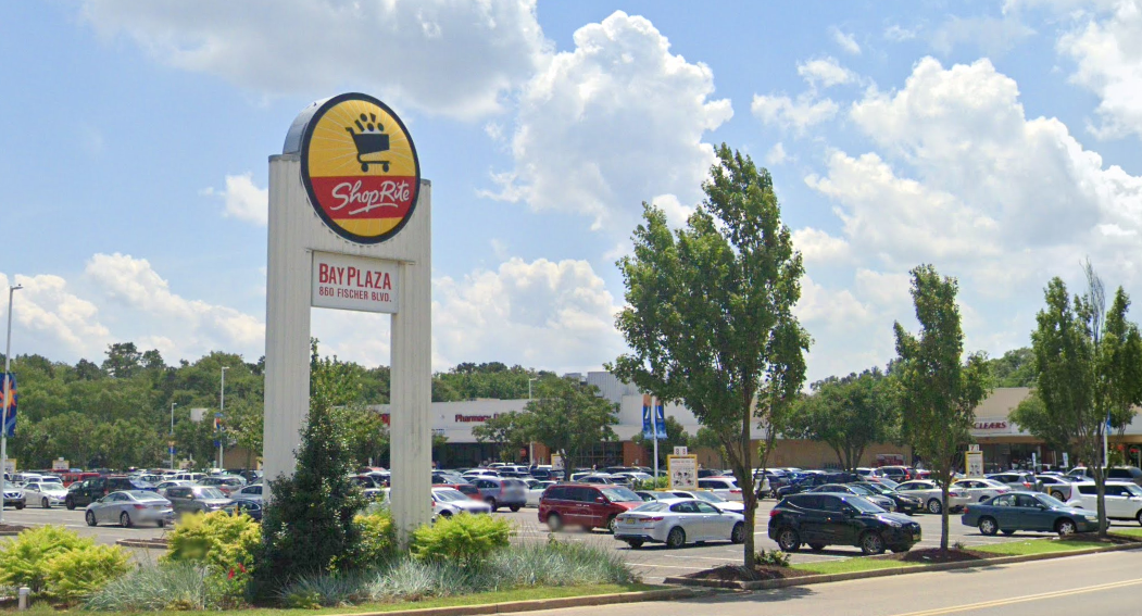
M 471 565 L 507 547 L 512 526 L 502 518 L 460 513 L 421 526 L 412 534 L 412 555 L 419 560 L 444 560 Z

